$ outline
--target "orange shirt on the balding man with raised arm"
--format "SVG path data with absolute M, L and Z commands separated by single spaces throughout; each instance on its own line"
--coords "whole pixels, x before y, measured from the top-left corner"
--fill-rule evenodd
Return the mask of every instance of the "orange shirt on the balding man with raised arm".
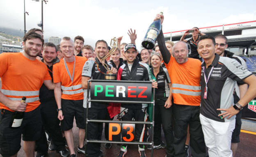
M 201 101 L 201 62 L 194 58 L 188 58 L 187 62 L 178 64 L 175 58 L 171 56 L 168 64 L 165 64 L 170 75 L 173 90 L 182 90 L 197 93 L 197 96 L 172 93 L 175 104 L 200 106 Z M 178 84 L 178 86 L 175 86 Z M 181 84 L 181 86 L 179 85 Z M 182 85 L 188 85 L 183 87 Z M 191 86 L 197 86 L 197 90 L 191 89 Z M 183 88 L 182 88 L 183 87 Z M 199 93 L 200 92 L 200 93 Z

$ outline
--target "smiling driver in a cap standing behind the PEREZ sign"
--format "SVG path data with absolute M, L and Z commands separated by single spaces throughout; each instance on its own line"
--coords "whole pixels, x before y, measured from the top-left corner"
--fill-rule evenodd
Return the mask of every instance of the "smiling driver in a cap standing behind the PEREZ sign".
M 135 44 L 126 44 L 124 47 L 124 54 L 126 61 L 123 62 L 123 65 L 120 66 L 117 74 L 117 80 L 133 80 L 133 81 L 149 81 L 151 77 L 151 72 L 149 66 L 145 63 L 139 62 L 136 59 L 137 49 Z M 152 87 L 157 87 L 157 82 L 152 83 Z M 146 121 L 146 107 L 147 104 L 121 104 L 120 111 L 125 114 L 121 118 L 123 121 L 132 121 L 134 118 L 135 121 Z M 135 134 L 136 140 L 138 142 L 146 141 L 144 124 L 135 124 Z M 146 157 L 145 146 L 139 145 L 139 155 L 140 157 Z M 120 153 L 118 157 L 123 157 L 127 153 L 127 145 L 123 144 L 121 146 Z

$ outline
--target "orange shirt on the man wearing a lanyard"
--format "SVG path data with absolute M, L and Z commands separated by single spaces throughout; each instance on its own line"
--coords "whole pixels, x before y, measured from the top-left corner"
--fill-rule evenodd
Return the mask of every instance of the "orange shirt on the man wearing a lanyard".
M 74 72 L 73 86 L 82 84 L 82 68 L 86 61 L 87 61 L 86 57 L 75 56 L 75 72 Z M 69 73 L 72 77 L 74 62 L 66 62 L 66 64 L 69 68 Z M 53 82 L 54 83 L 61 82 L 61 85 L 65 87 L 72 86 L 72 82 L 68 72 L 66 71 L 63 58 L 60 60 L 59 63 L 53 65 Z M 73 91 L 80 90 L 80 89 L 82 88 L 78 88 Z M 84 93 L 82 92 L 82 93 L 73 94 L 73 95 L 62 94 L 62 99 L 83 100 Z

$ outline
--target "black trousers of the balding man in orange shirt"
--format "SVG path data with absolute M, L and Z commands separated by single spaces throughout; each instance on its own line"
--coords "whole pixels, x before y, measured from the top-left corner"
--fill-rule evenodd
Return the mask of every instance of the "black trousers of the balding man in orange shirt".
M 190 148 L 193 157 L 205 157 L 206 145 L 199 119 L 200 106 L 174 104 L 174 156 L 185 157 L 187 125 L 190 131 Z

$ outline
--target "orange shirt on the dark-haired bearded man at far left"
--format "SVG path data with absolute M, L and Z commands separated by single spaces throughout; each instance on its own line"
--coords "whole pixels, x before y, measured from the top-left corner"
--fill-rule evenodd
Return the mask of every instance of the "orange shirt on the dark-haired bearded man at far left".
M 43 80 L 52 80 L 46 64 L 38 60 L 30 60 L 22 53 L 2 53 L 0 54 L 0 77 L 2 79 L 2 93 L 11 91 L 14 94 L 7 95 L 10 98 L 21 100 L 23 96 L 27 98 L 38 97 L 37 101 L 27 102 L 25 112 L 33 111 L 40 105 L 39 89 Z M 22 91 L 38 91 L 38 95 L 27 96 Z M 26 92 L 28 93 L 28 92 Z M 0 108 L 12 111 L 10 108 L 0 103 Z M 14 111 L 12 111 L 14 112 Z

